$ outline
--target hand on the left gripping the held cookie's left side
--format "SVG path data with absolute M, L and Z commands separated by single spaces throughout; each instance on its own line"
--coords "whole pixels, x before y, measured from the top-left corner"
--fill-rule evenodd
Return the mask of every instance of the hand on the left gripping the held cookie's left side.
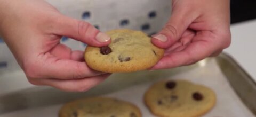
M 41 0 L 0 0 L 0 34 L 31 84 L 86 91 L 110 74 L 87 67 L 83 51 L 60 44 L 62 35 L 91 46 L 110 37 L 84 21 L 71 19 Z

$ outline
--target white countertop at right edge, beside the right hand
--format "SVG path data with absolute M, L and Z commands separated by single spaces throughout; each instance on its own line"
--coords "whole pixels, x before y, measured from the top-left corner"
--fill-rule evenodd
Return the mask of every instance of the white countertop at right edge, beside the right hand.
M 224 51 L 256 80 L 256 20 L 231 25 L 231 45 Z

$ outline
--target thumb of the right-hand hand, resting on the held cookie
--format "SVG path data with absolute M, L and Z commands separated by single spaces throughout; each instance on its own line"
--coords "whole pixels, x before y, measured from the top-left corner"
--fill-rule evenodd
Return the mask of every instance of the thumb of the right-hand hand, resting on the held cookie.
M 193 22 L 193 16 L 190 16 L 187 10 L 173 9 L 169 21 L 160 32 L 153 35 L 151 42 L 159 48 L 169 48 L 180 39 L 189 24 Z

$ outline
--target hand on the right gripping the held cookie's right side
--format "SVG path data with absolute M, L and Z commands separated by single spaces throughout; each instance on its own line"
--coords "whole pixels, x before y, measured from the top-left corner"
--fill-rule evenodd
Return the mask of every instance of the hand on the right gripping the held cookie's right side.
M 190 65 L 230 45 L 229 0 L 173 0 L 172 15 L 151 40 L 165 55 L 152 69 Z

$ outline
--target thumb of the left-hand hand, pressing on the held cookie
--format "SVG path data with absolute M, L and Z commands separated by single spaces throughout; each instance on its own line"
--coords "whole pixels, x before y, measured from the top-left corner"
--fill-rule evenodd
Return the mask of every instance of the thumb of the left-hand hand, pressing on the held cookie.
M 55 32 L 58 35 L 73 38 L 90 46 L 102 47 L 110 43 L 110 37 L 107 34 L 100 32 L 88 22 L 62 16 L 56 25 Z

